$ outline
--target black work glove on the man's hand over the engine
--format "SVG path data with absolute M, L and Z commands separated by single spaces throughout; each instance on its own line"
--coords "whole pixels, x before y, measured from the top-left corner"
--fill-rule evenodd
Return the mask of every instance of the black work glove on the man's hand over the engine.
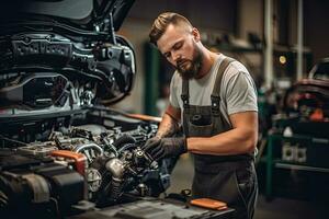
M 154 137 L 146 141 L 143 149 L 156 161 L 162 158 L 180 155 L 188 152 L 186 139 Z

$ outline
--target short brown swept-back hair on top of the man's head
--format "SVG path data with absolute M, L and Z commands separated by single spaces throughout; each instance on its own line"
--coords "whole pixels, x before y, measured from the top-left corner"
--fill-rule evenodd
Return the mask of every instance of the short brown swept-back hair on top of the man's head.
M 184 23 L 192 27 L 190 21 L 178 13 L 173 12 L 164 12 L 161 13 L 154 22 L 152 27 L 149 32 L 149 42 L 157 46 L 157 41 L 166 32 L 169 24 L 178 24 Z

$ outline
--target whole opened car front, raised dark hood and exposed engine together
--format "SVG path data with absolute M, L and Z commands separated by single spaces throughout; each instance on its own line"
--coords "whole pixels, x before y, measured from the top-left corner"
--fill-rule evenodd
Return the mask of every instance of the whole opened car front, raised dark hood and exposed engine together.
M 174 159 L 141 149 L 159 122 L 109 107 L 136 73 L 133 46 L 115 33 L 133 1 L 81 1 L 91 12 L 78 20 L 54 13 L 71 3 L 1 5 L 1 216 L 60 218 L 170 185 Z

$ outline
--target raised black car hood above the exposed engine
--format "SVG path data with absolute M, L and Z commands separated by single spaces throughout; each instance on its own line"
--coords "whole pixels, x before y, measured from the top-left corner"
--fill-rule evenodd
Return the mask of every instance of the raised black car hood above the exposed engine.
M 135 54 L 115 31 L 133 0 L 16 2 L 0 3 L 2 112 L 109 105 L 129 94 Z

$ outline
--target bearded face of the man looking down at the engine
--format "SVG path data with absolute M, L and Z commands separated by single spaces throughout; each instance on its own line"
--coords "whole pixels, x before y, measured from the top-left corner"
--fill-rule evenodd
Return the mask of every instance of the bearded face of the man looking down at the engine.
M 202 53 L 192 32 L 192 27 L 170 24 L 157 42 L 159 50 L 185 79 L 196 78 L 202 67 Z

